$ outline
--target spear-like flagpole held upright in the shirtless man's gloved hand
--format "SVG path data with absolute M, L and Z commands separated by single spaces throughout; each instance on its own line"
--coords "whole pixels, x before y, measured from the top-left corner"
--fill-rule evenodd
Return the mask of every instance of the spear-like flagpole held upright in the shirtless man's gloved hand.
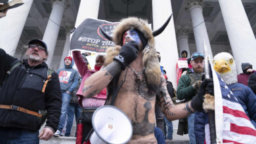
M 210 79 L 211 76 L 209 71 L 209 53 L 208 53 L 208 48 L 205 45 L 204 39 L 203 39 L 203 53 L 205 56 L 204 58 L 205 79 Z M 211 96 L 210 94 L 205 94 L 204 97 L 205 99 L 203 101 L 203 109 L 208 113 L 211 144 L 215 144 L 217 142 L 216 142 L 216 130 L 215 130 L 214 96 Z

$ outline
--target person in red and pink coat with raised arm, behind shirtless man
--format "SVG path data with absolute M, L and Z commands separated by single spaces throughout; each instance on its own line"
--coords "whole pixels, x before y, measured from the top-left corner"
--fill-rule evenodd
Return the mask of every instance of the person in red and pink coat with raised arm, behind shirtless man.
M 79 105 L 81 105 L 81 107 L 83 107 L 81 111 L 83 134 L 78 134 L 77 130 L 77 140 L 83 143 L 85 142 L 85 137 L 87 137 L 90 130 L 93 128 L 91 123 L 93 112 L 96 110 L 96 108 L 104 105 L 106 101 L 106 88 L 104 88 L 99 94 L 93 96 L 93 98 L 83 98 L 83 85 L 87 78 L 89 78 L 91 75 L 93 75 L 93 73 L 101 69 L 101 67 L 104 65 L 105 57 L 102 55 L 96 56 L 95 69 L 92 70 L 89 69 L 89 67 L 87 66 L 87 62 L 85 62 L 85 60 L 83 59 L 80 51 L 73 51 L 73 58 L 75 61 L 75 65 L 77 65 L 77 70 L 79 74 L 81 75 L 81 77 L 83 77 L 79 89 L 76 93 L 77 96 L 79 96 L 78 103 Z

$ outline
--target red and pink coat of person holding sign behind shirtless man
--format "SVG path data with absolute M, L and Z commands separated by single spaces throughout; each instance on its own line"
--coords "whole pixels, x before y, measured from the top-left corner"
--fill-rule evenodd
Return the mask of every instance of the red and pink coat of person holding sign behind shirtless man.
M 73 58 L 75 61 L 75 65 L 77 66 L 77 70 L 81 77 L 83 77 L 82 82 L 79 86 L 79 89 L 77 90 L 77 95 L 79 96 L 79 105 L 82 105 L 82 99 L 83 98 L 83 85 L 87 78 L 89 78 L 93 73 L 95 73 L 95 70 L 90 70 L 87 66 L 87 63 L 83 60 L 81 56 L 80 51 L 73 51 Z M 93 98 L 96 99 L 106 99 L 106 88 L 102 90 L 99 94 L 96 94 L 93 96 Z

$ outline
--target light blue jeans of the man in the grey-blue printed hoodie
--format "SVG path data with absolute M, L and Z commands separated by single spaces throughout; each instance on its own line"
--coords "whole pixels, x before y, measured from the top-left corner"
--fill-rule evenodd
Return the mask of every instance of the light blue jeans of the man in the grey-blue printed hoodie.
M 64 128 L 64 124 L 66 122 L 66 116 L 68 114 L 68 105 L 70 105 L 70 94 L 66 92 L 62 92 L 62 105 L 61 105 L 61 113 L 60 113 L 60 122 L 58 123 L 58 130 L 60 132 Z

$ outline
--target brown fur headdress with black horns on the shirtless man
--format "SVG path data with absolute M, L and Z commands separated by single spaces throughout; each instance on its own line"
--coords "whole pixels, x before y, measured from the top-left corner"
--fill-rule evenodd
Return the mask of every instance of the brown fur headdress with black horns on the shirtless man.
M 165 22 L 165 24 L 163 24 L 160 29 L 154 32 L 152 32 L 151 29 L 148 27 L 148 22 L 146 22 L 146 20 L 135 17 L 125 18 L 121 20 L 121 22 L 114 29 L 113 37 L 110 37 L 108 34 L 106 34 L 105 31 L 100 27 L 100 30 L 105 35 L 105 37 L 110 41 L 114 41 L 114 43 L 116 43 L 116 46 L 110 47 L 108 48 L 108 50 L 106 50 L 105 65 L 111 63 L 113 61 L 113 58 L 117 54 L 119 54 L 119 50 L 123 45 L 123 34 L 125 33 L 125 31 L 133 27 L 133 29 L 135 29 L 135 31 L 139 33 L 140 39 L 142 40 L 142 45 L 144 48 L 142 51 L 142 63 L 144 66 L 144 72 L 146 74 L 148 86 L 154 92 L 158 92 L 159 86 L 161 84 L 161 69 L 156 53 L 154 37 L 159 35 L 165 29 L 165 27 L 169 23 L 169 20 L 171 19 L 171 16 L 169 16 L 167 22 Z M 143 40 L 145 40 L 146 43 L 143 43 Z

